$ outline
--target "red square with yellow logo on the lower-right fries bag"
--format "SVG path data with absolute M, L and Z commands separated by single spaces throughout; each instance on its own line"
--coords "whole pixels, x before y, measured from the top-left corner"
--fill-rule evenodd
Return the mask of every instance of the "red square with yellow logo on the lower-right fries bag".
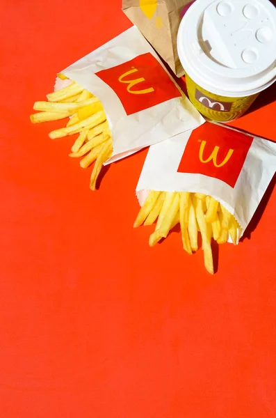
M 242 132 L 204 123 L 190 134 L 177 171 L 218 178 L 234 188 L 252 141 Z

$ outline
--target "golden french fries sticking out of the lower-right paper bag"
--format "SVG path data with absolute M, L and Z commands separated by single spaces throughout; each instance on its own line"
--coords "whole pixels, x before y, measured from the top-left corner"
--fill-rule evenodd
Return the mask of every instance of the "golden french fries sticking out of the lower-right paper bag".
M 193 251 L 198 249 L 197 235 L 200 232 L 204 265 L 211 274 L 211 239 L 223 244 L 228 241 L 230 235 L 236 245 L 237 231 L 241 229 L 228 210 L 213 197 L 202 193 L 149 191 L 133 226 L 136 228 L 142 224 L 152 225 L 154 222 L 156 228 L 149 237 L 150 247 L 166 238 L 170 230 L 180 223 L 183 247 L 188 254 L 193 254 Z

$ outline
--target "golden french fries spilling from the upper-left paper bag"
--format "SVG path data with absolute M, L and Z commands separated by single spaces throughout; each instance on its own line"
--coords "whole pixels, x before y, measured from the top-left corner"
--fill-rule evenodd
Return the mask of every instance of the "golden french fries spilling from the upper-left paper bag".
M 58 75 L 60 79 L 66 79 Z M 40 123 L 70 118 L 65 127 L 49 133 L 51 139 L 79 134 L 70 157 L 83 157 L 82 168 L 95 162 L 90 178 L 90 189 L 95 190 L 102 166 L 112 155 L 113 141 L 102 103 L 88 90 L 72 82 L 69 86 L 47 95 L 48 101 L 35 102 L 39 113 L 30 116 L 31 122 Z

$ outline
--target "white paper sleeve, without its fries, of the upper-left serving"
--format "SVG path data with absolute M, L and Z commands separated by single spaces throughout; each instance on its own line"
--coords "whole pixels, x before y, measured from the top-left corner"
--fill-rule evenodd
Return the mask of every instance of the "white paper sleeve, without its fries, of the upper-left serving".
M 107 163 L 204 123 L 136 26 L 62 73 L 102 101 L 113 134 Z

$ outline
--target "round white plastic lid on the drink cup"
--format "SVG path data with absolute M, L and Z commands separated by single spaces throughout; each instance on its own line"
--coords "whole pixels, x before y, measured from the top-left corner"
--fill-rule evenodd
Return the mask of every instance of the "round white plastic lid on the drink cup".
M 276 79 L 276 8 L 269 0 L 197 0 L 177 49 L 190 78 L 211 93 L 259 93 Z

